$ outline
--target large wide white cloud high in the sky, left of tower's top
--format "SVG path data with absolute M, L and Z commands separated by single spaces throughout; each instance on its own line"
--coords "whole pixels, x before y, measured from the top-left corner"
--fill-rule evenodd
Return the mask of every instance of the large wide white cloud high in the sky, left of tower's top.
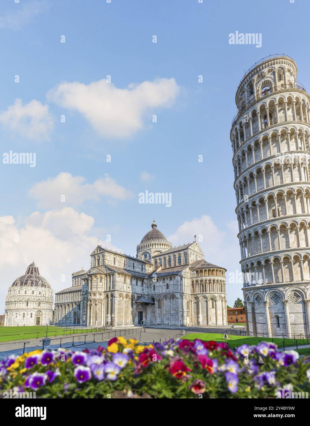
M 106 80 L 88 85 L 60 83 L 47 98 L 61 107 L 84 115 L 102 136 L 125 138 L 141 130 L 147 115 L 157 114 L 158 108 L 170 107 L 179 93 L 174 78 L 144 81 L 126 89 L 118 89 Z

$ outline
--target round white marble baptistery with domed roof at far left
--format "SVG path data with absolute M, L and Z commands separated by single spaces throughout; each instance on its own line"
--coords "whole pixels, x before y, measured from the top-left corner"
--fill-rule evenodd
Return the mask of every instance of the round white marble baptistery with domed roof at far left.
M 52 323 L 54 296 L 51 286 L 35 263 L 31 263 L 9 287 L 4 325 L 47 325 Z

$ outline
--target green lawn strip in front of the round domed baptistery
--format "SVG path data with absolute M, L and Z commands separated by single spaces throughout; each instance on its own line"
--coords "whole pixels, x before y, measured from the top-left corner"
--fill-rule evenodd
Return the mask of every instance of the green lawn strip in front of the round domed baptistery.
M 92 330 L 90 328 L 87 331 L 96 331 L 96 328 Z M 75 334 L 85 333 L 86 328 L 66 328 L 66 327 L 55 327 L 54 325 L 48 326 L 48 337 L 66 336 Z M 98 328 L 99 331 L 99 328 Z M 29 327 L 0 327 L 0 342 L 10 342 L 11 340 L 27 340 L 38 337 L 39 339 L 46 336 L 46 326 L 29 326 Z

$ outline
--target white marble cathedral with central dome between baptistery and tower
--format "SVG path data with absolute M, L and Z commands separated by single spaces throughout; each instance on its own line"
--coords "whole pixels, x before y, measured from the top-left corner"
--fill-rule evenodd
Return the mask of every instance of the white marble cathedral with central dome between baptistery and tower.
M 54 323 L 92 327 L 227 325 L 225 268 L 195 241 L 173 247 L 155 221 L 137 256 L 97 245 L 88 271 L 56 293 Z

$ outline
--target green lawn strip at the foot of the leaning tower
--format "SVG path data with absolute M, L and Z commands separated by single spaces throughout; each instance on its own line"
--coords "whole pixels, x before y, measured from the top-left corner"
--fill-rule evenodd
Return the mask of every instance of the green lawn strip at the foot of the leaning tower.
M 223 335 L 224 334 L 219 334 L 219 333 L 193 333 L 193 334 L 188 334 L 187 336 L 182 337 L 182 339 L 187 339 L 187 340 L 200 339 L 200 340 L 206 340 L 206 341 L 214 340 L 216 342 L 227 342 L 231 348 L 235 346 L 236 347 L 241 346 L 244 343 L 246 343 L 247 345 L 257 345 L 259 342 L 274 342 L 278 346 L 283 346 L 283 339 L 281 338 L 234 336 L 234 335 L 228 334 L 229 340 L 226 340 L 226 339 L 223 339 Z M 310 344 L 310 340 L 307 341 L 307 340 L 297 339 L 298 345 L 303 345 L 308 343 Z M 294 339 L 285 339 L 285 346 L 294 346 L 294 345 L 295 345 Z

